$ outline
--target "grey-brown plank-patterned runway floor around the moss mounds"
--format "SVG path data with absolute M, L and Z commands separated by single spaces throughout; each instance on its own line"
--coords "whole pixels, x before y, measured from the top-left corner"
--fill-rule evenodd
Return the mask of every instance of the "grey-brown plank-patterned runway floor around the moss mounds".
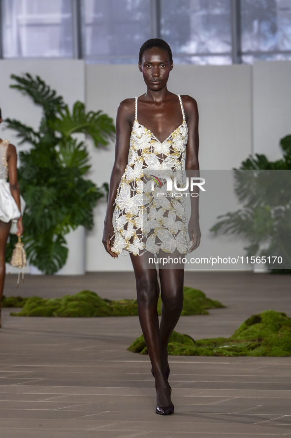
M 132 273 L 26 276 L 5 294 L 62 296 L 91 289 L 135 296 Z M 181 317 L 194 338 L 229 336 L 251 314 L 291 316 L 290 276 L 186 272 L 185 285 L 227 305 Z M 170 357 L 175 414 L 155 414 L 147 356 L 127 351 L 137 317 L 17 318 L 3 309 L 0 329 L 1 438 L 291 437 L 291 358 Z

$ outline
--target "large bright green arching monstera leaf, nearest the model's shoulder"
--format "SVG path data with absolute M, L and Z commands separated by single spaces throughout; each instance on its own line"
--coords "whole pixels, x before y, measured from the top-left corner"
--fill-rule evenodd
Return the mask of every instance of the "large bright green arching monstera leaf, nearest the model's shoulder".
M 115 133 L 112 118 L 102 111 L 85 112 L 85 105 L 77 101 L 70 113 L 67 106 L 59 112 L 59 116 L 50 121 L 50 127 L 58 131 L 62 136 L 69 137 L 73 133 L 82 132 L 88 134 L 94 140 L 95 146 L 108 145 L 109 139 Z

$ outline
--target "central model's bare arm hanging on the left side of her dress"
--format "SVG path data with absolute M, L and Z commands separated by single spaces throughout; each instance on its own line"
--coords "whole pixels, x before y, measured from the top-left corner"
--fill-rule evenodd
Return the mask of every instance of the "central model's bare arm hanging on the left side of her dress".
M 107 253 L 112 257 L 118 258 L 118 255 L 111 251 L 113 240 L 111 238 L 114 235 L 113 226 L 113 213 L 114 202 L 116 198 L 117 189 L 121 180 L 121 177 L 128 164 L 129 157 L 129 140 L 131 132 L 131 124 L 133 122 L 134 115 L 134 99 L 126 99 L 121 102 L 118 107 L 116 117 L 116 146 L 115 146 L 115 160 L 110 178 L 109 194 L 107 211 L 104 220 L 104 231 L 102 243 Z M 131 120 L 132 119 L 132 120 Z

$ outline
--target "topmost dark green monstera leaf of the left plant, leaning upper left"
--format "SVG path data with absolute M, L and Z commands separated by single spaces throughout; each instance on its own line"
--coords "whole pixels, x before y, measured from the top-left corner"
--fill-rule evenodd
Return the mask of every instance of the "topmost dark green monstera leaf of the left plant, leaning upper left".
M 61 108 L 65 107 L 63 97 L 57 96 L 57 92 L 52 90 L 39 76 L 32 77 L 30 73 L 24 76 L 11 74 L 11 79 L 16 80 L 17 84 L 10 85 L 10 88 L 20 90 L 22 94 L 32 98 L 36 105 L 40 105 L 47 118 L 53 117 Z

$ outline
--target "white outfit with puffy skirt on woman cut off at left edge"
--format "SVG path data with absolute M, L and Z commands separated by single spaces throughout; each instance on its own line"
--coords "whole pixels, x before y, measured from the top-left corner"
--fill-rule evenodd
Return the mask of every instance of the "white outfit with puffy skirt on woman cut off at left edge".
M 17 204 L 11 195 L 9 183 L 7 183 L 8 177 L 8 163 L 7 163 L 7 148 L 9 145 L 8 140 L 2 140 L 0 142 L 0 220 L 2 222 L 17 222 L 21 214 L 25 209 L 25 201 L 20 197 L 21 210 L 20 213 Z M 14 230 L 16 232 L 16 229 Z

